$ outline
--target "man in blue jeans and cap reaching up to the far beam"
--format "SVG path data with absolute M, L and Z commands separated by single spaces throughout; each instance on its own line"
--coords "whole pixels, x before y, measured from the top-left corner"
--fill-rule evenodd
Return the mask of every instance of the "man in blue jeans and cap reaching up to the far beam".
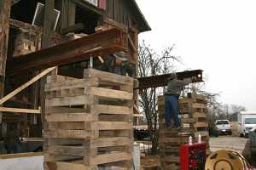
M 181 123 L 178 119 L 177 101 L 183 87 L 192 82 L 191 78 L 178 80 L 176 74 L 168 78 L 167 91 L 165 94 L 166 127 L 174 125 L 179 129 Z

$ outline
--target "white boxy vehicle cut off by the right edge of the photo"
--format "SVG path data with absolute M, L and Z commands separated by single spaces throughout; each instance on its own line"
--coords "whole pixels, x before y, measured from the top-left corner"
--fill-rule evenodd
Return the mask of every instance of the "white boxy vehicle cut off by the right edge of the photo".
M 247 136 L 249 131 L 256 126 L 256 111 L 241 111 L 238 114 L 238 133 Z

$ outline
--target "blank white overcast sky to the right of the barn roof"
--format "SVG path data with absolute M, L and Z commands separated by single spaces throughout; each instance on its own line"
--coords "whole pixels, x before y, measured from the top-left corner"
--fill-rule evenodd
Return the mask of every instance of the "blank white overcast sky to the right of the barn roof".
M 152 48 L 176 44 L 183 69 L 201 69 L 221 102 L 256 111 L 255 0 L 137 0 Z

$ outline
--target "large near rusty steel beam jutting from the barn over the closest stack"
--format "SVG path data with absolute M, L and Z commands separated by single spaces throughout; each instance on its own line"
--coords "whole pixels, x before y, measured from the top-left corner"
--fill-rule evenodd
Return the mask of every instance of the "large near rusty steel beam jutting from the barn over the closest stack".
M 113 28 L 70 42 L 64 42 L 32 54 L 9 59 L 6 74 L 7 76 L 14 76 L 52 66 L 73 64 L 90 59 L 91 55 L 103 57 L 106 54 L 127 51 L 125 46 L 127 42 L 126 37 L 124 31 Z

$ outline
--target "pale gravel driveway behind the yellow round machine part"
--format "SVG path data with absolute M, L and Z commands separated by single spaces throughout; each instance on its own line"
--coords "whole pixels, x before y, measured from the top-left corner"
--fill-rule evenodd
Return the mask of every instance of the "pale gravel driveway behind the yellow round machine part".
M 219 136 L 210 139 L 210 149 L 216 150 L 236 150 L 242 152 L 247 144 L 248 139 L 232 136 Z

